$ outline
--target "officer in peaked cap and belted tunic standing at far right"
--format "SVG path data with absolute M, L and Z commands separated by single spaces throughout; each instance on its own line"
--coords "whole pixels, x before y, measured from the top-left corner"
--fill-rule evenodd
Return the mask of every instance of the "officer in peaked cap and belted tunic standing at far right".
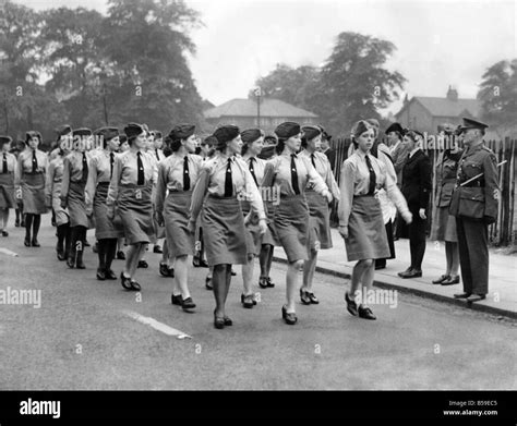
M 482 301 L 489 292 L 488 226 L 497 218 L 497 166 L 494 153 L 483 144 L 486 127 L 464 118 L 460 132 L 465 150 L 449 210 L 456 217 L 464 282 L 464 292 L 454 296 L 469 303 Z

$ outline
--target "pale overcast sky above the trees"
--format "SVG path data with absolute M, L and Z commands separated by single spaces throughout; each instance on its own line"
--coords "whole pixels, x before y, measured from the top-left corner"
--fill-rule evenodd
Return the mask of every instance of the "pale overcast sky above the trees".
M 41 10 L 84 0 L 16 0 Z M 201 96 L 220 105 L 244 98 L 277 63 L 320 65 L 337 35 L 356 32 L 392 41 L 386 63 L 407 82 L 404 95 L 474 98 L 485 70 L 517 58 L 517 7 L 509 0 L 185 0 L 203 26 L 191 37 L 189 63 Z M 88 0 L 101 13 L 105 0 Z M 401 99 L 387 111 L 397 112 Z M 387 112 L 384 111 L 384 112 Z

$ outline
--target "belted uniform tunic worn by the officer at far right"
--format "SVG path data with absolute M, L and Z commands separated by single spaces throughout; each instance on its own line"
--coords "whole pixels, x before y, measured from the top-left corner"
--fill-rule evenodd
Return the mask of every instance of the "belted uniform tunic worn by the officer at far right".
M 460 186 L 480 173 L 483 175 Z M 497 218 L 497 161 L 494 153 L 483 144 L 466 149 L 459 160 L 456 186 L 449 207 L 450 215 L 484 219 L 488 223 L 493 223 Z

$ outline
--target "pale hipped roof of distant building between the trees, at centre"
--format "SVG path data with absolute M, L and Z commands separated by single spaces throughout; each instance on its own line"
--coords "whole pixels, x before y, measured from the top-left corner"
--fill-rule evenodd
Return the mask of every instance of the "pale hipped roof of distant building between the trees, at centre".
M 232 99 L 204 112 L 205 119 L 221 117 L 256 117 L 256 101 L 253 99 Z M 278 99 L 262 99 L 261 115 L 272 118 L 317 118 L 316 114 Z

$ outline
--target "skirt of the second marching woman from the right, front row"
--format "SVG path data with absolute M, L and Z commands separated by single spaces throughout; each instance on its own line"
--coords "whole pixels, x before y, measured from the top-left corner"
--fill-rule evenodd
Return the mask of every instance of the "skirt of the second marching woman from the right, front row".
M 275 208 L 273 226 L 274 235 L 284 247 L 289 263 L 309 258 L 309 206 L 304 195 L 281 197 Z

